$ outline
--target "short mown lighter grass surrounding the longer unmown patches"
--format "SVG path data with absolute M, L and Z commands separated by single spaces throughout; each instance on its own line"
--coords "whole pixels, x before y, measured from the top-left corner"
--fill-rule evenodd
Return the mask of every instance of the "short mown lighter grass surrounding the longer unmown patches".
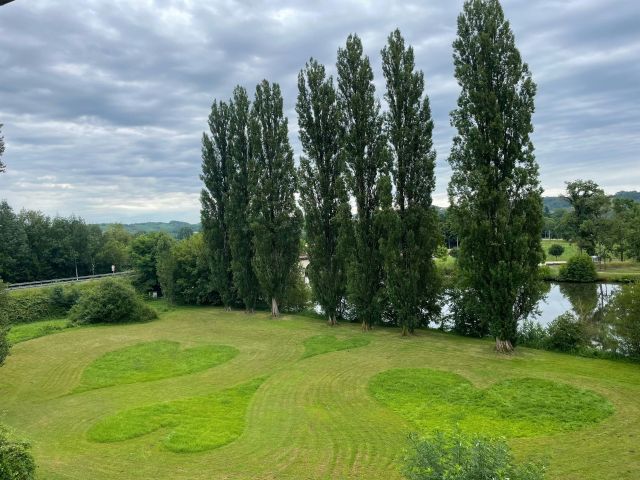
M 369 345 L 304 358 L 316 335 L 366 336 Z M 214 368 L 162 380 L 69 393 L 82 372 L 106 352 L 141 342 L 172 340 L 240 353 Z M 431 368 L 462 375 L 478 388 L 533 377 L 592 390 L 613 405 L 595 426 L 510 441 L 516 455 L 545 455 L 552 479 L 640 477 L 640 367 L 521 349 L 493 353 L 490 342 L 395 329 L 362 334 L 358 325 L 331 329 L 300 317 L 215 308 L 168 311 L 156 322 L 69 329 L 16 345 L 0 370 L 0 421 L 34 444 L 40 478 L 60 479 L 399 479 L 397 458 L 412 429 L 369 394 L 370 379 L 391 368 Z M 246 428 L 234 442 L 201 453 L 177 454 L 169 433 L 95 443 L 89 429 L 120 412 L 204 397 L 267 377 L 249 403 Z

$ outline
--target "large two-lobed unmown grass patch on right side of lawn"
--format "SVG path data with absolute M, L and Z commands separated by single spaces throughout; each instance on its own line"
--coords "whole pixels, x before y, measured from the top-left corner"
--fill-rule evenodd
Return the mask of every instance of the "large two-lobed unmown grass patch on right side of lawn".
M 531 437 L 577 430 L 613 413 L 596 393 L 533 378 L 483 390 L 454 373 L 407 368 L 379 373 L 369 389 L 425 433 L 457 425 L 475 434 Z

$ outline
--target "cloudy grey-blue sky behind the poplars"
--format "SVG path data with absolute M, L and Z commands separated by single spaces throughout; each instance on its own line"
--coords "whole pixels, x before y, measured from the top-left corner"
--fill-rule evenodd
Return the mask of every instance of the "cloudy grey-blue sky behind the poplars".
M 435 121 L 434 203 L 447 204 L 452 47 L 462 0 L 15 0 L 0 7 L 0 199 L 88 222 L 199 220 L 200 146 L 214 99 L 266 78 L 283 91 L 296 158 L 296 78 L 335 75 L 357 33 L 380 50 L 400 28 Z M 593 179 L 640 190 L 640 2 L 504 0 L 538 85 L 533 141 L 546 195 Z

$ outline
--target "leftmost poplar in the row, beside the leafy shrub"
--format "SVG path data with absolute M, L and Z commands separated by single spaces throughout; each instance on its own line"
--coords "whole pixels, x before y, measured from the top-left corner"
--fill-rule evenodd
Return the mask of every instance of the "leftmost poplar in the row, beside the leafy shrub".
M 226 207 L 229 202 L 229 122 L 230 108 L 214 101 L 209 115 L 209 132 L 202 135 L 202 174 L 200 195 L 202 231 L 207 244 L 214 290 L 225 308 L 233 301 L 231 248 Z

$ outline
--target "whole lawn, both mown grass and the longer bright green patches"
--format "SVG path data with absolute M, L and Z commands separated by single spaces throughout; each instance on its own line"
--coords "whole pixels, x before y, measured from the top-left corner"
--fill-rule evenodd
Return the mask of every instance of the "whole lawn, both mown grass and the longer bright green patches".
M 0 369 L 0 421 L 46 480 L 393 480 L 409 432 L 456 425 L 551 479 L 636 479 L 638 398 L 635 364 L 217 308 L 65 329 Z

